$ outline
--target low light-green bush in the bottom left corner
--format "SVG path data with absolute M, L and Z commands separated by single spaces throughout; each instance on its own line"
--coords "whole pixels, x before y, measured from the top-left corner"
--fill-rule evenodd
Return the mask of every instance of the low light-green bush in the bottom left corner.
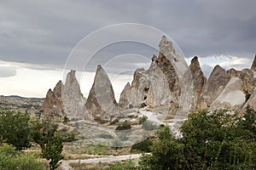
M 9 144 L 0 146 L 0 169 L 6 170 L 42 170 L 44 164 L 38 161 L 38 157 L 28 155 Z

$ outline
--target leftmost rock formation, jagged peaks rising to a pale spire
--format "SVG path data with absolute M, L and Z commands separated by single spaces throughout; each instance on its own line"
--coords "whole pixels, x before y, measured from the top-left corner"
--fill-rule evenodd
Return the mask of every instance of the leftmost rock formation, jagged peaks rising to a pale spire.
M 41 109 L 42 116 L 53 117 L 58 121 L 61 121 L 62 116 L 71 120 L 83 118 L 86 112 L 84 103 L 75 71 L 70 71 L 65 85 L 59 81 L 53 91 L 49 89 Z

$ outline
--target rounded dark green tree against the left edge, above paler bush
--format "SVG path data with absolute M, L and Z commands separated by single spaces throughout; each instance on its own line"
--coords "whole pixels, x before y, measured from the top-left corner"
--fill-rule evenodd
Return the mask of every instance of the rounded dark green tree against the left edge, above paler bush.
M 13 144 L 16 150 L 30 146 L 29 114 L 0 111 L 0 141 Z

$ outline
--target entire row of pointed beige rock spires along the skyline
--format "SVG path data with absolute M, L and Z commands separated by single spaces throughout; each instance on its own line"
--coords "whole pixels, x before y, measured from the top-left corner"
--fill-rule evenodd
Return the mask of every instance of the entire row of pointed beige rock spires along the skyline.
M 165 36 L 159 47 L 160 54 L 153 56 L 149 69 L 139 68 L 134 72 L 133 81 L 131 85 L 129 82 L 125 85 L 119 103 L 114 98 L 108 74 L 98 65 L 88 99 L 80 91 L 75 71 L 71 71 L 65 84 L 60 81 L 54 90 L 49 89 L 42 115 L 59 121 L 67 116 L 71 119 L 87 117 L 96 122 L 113 122 L 120 111 L 133 107 L 147 106 L 149 111 L 162 108 L 167 115 L 219 108 L 240 114 L 247 105 L 256 109 L 256 56 L 251 69 L 225 71 L 216 65 L 207 79 L 197 57 L 191 60 L 188 67 Z

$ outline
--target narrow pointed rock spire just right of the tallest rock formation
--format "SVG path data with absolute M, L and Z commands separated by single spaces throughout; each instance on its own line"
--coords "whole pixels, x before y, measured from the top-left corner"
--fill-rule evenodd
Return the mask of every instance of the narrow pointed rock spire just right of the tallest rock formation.
M 193 101 L 191 111 L 195 111 L 198 105 L 199 98 L 203 92 L 203 88 L 207 83 L 207 77 L 201 71 L 200 64 L 198 62 L 198 57 L 194 57 L 189 65 L 191 71 L 191 76 L 193 80 Z

